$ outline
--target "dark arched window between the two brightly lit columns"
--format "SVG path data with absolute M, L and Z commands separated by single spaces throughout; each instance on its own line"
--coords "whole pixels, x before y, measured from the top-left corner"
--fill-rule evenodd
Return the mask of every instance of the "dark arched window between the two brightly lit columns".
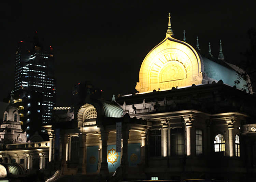
M 171 155 L 172 156 L 184 155 L 184 129 L 183 128 L 171 129 Z

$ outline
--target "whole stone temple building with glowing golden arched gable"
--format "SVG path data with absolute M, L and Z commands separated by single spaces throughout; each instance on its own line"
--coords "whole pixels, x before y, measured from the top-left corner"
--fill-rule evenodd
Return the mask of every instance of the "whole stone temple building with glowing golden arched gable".
M 104 101 L 79 83 L 72 106 L 53 108 L 48 142 L 25 144 L 23 154 L 8 144 L 2 158 L 16 152 L 31 171 L 30 158 L 40 159 L 32 163 L 50 171 L 47 182 L 256 180 L 256 102 L 243 88 L 250 79 L 234 84 L 242 70 L 225 61 L 221 41 L 214 58 L 210 43 L 203 55 L 198 38 L 195 48 L 185 40 L 185 32 L 174 38 L 169 14 L 165 38 L 141 64 L 138 93 Z

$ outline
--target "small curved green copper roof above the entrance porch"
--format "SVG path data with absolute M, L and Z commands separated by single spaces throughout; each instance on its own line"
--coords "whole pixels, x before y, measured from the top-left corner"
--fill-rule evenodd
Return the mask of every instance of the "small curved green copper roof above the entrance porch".
M 102 102 L 102 105 L 106 117 L 122 117 L 123 109 L 115 102 Z

